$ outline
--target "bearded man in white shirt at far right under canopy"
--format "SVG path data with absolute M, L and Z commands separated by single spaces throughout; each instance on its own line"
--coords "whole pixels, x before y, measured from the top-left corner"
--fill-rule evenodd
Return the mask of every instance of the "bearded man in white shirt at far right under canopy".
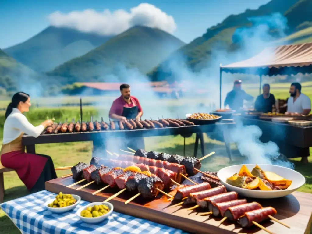
M 311 100 L 307 95 L 301 93 L 301 85 L 297 82 L 292 83 L 289 93 L 287 112 L 308 115 L 311 111 Z

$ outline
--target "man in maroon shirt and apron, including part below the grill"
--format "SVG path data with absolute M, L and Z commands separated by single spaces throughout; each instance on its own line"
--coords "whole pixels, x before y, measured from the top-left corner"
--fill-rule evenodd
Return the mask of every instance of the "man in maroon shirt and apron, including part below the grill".
M 143 115 L 143 110 L 139 100 L 136 97 L 131 96 L 130 85 L 120 85 L 120 93 L 120 97 L 115 99 L 110 107 L 109 117 L 123 122 L 127 119 L 140 121 Z M 125 146 L 134 150 L 144 149 L 144 138 L 136 137 L 126 139 L 124 147 Z

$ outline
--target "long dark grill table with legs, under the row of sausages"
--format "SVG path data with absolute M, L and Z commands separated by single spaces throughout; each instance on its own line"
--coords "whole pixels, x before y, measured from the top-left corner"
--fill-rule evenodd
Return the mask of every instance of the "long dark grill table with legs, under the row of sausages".
M 47 134 L 40 135 L 35 138 L 32 136 L 24 135 L 22 137 L 22 144 L 26 146 L 27 153 L 35 154 L 36 144 L 47 143 L 64 143 L 64 142 L 80 142 L 80 141 L 103 141 L 105 138 L 133 138 L 133 137 L 150 137 L 150 136 L 167 136 L 167 135 L 185 135 L 196 133 L 201 135 L 205 132 L 226 132 L 228 128 L 235 126 L 235 123 L 222 123 L 222 121 L 215 124 L 206 125 L 193 125 L 193 126 L 180 126 L 180 127 L 167 127 L 158 129 L 139 129 L 139 130 L 107 130 L 107 131 L 93 131 L 93 132 L 79 132 L 79 133 L 60 133 L 60 134 Z M 197 155 L 198 139 L 195 142 L 194 156 Z M 227 152 L 230 155 L 230 144 L 226 144 Z M 201 140 L 202 156 L 205 155 L 203 140 Z

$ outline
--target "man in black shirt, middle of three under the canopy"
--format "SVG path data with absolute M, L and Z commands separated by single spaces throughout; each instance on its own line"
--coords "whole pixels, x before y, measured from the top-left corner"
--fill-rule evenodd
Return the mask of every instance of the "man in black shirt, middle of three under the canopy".
M 270 85 L 264 84 L 262 91 L 263 93 L 256 99 L 255 109 L 263 113 L 272 112 L 272 105 L 275 105 L 275 97 L 270 93 Z

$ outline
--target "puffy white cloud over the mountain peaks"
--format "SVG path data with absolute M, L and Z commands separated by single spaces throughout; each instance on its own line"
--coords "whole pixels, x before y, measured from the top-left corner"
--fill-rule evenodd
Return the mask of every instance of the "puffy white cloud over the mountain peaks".
M 156 27 L 173 33 L 177 25 L 172 16 L 149 3 L 141 3 L 126 12 L 123 9 L 110 12 L 96 12 L 92 9 L 62 13 L 53 12 L 48 16 L 51 25 L 71 27 L 82 32 L 97 32 L 102 35 L 117 35 L 135 25 Z

